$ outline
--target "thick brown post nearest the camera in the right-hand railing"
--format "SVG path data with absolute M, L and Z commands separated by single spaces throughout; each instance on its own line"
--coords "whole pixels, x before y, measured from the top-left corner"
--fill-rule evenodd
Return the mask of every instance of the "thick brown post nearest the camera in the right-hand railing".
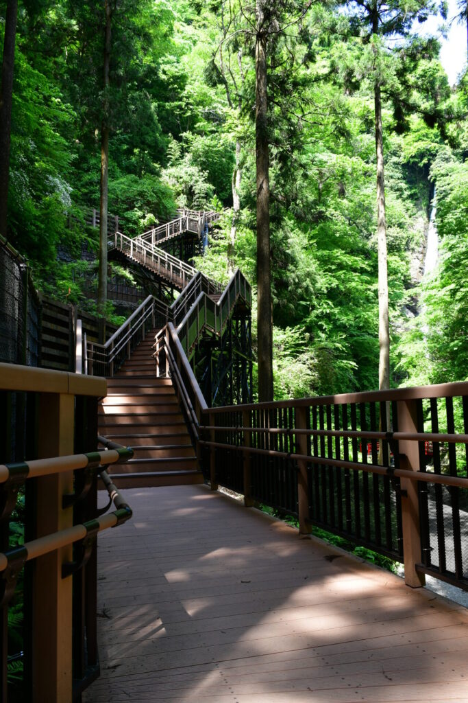
M 417 432 L 417 401 L 398 401 L 396 406 L 398 431 Z M 419 470 L 420 458 L 417 441 L 400 440 L 399 459 L 401 469 Z M 420 586 L 424 586 L 426 579 L 424 574 L 418 574 L 415 569 L 415 565 L 420 564 L 422 561 L 417 482 L 401 478 L 400 484 L 405 583 L 406 586 L 411 586 L 411 588 L 420 588 Z

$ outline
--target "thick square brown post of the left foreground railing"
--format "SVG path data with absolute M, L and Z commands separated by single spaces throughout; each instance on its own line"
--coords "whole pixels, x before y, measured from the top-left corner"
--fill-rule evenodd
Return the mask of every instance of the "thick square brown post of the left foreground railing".
M 38 441 L 39 458 L 73 453 L 72 394 L 41 393 Z M 36 536 L 72 527 L 73 508 L 62 508 L 62 496 L 73 491 L 73 472 L 36 481 Z M 35 701 L 72 701 L 72 578 L 62 579 L 62 564 L 71 560 L 72 546 L 68 546 L 36 561 L 32 607 Z

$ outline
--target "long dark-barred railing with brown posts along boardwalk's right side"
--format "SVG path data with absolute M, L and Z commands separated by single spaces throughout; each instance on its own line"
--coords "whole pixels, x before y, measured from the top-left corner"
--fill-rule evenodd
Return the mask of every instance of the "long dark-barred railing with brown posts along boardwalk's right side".
M 468 587 L 468 383 L 202 414 L 213 486 Z

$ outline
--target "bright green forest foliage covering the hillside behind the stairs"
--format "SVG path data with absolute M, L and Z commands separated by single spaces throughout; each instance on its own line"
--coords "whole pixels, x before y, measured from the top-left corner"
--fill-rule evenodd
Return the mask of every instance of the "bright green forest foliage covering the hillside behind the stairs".
M 223 282 L 239 266 L 255 288 L 254 37 L 240 4 L 230 13 L 192 0 L 111 4 L 109 212 L 124 232 L 138 233 L 177 206 L 229 207 L 239 169 L 234 244 L 227 211 L 194 263 Z M 281 2 L 272 12 L 293 18 L 298 6 Z M 415 16 L 435 11 L 431 2 L 376 6 L 376 37 L 371 6 L 352 2 L 346 11 L 314 5 L 290 32 L 269 37 L 277 398 L 377 386 L 375 77 L 394 384 L 466 378 L 467 75 L 450 91 L 439 44 L 410 36 Z M 88 0 L 25 3 L 13 95 L 10 237 L 44 292 L 88 311 L 97 269 L 80 261 L 81 248 L 96 250 L 97 231 L 84 226 L 79 206 L 99 200 L 103 19 L 103 6 Z M 399 41 L 387 41 L 389 32 Z M 429 176 L 441 259 L 418 287 Z M 72 262 L 57 261 L 59 246 Z M 111 306 L 107 313 L 115 319 Z M 255 325 L 253 335 L 255 352 Z

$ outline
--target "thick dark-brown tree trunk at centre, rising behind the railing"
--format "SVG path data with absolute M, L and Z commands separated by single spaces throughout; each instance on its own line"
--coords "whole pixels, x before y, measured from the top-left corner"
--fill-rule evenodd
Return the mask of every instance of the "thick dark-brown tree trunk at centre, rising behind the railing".
M 258 400 L 273 400 L 273 324 L 269 243 L 269 141 L 267 34 L 263 0 L 257 0 L 255 39 L 255 153 L 257 159 Z

